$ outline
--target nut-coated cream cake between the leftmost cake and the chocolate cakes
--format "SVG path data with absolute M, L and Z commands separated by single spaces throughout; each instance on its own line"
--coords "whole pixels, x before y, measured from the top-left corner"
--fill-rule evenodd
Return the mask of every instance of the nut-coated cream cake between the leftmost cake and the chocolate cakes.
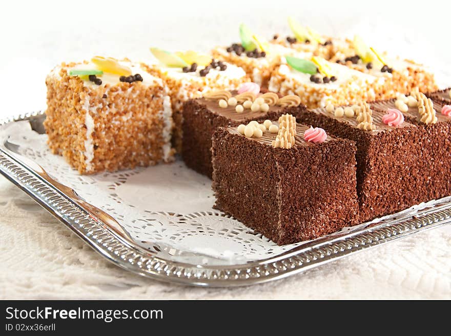
M 249 77 L 240 67 L 214 60 L 211 55 L 193 51 L 169 53 L 157 48 L 151 50 L 159 63 L 149 64 L 146 68 L 168 86 L 174 120 L 172 142 L 180 152 L 183 103 L 212 90 L 236 89 L 240 84 L 249 82 Z

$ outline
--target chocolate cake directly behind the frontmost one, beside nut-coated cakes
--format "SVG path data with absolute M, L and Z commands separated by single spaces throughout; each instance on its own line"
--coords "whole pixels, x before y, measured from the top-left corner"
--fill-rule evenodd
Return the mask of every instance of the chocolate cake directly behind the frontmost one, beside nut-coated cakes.
M 252 108 L 252 105 L 256 104 L 259 97 L 264 103 L 260 104 L 262 108 L 257 110 L 256 107 Z M 231 104 L 228 104 L 230 98 L 232 98 Z M 220 107 L 219 102 L 227 106 Z M 183 105 L 183 161 L 191 169 L 211 179 L 212 135 L 216 128 L 238 126 L 252 120 L 258 122 L 277 120 L 283 113 L 296 116 L 304 109 L 297 96 L 289 95 L 279 98 L 273 92 L 264 94 L 246 92 L 238 95 L 236 91 L 216 91 L 210 94 L 209 98 L 190 100 Z

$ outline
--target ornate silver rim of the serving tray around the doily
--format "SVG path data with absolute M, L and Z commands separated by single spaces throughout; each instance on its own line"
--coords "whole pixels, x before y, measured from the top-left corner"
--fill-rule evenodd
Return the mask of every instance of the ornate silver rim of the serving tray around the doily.
M 43 112 L 20 115 L 0 121 L 0 127 L 27 120 L 33 130 L 44 132 L 44 118 Z M 281 279 L 451 222 L 451 202 L 446 197 L 414 214 L 402 212 L 377 223 L 365 223 L 356 230 L 325 236 L 271 258 L 239 265 L 199 265 L 161 258 L 158 250 L 139 246 L 112 215 L 53 180 L 7 141 L 0 144 L 0 172 L 115 265 L 151 279 L 195 286 L 241 286 Z

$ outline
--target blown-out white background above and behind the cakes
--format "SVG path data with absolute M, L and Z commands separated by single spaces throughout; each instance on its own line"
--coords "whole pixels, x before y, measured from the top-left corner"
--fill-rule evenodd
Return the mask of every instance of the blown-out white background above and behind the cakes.
M 321 33 L 358 33 L 378 49 L 446 70 L 450 8 L 424 0 L 3 2 L 0 116 L 44 108 L 45 76 L 58 63 L 97 54 L 146 60 L 151 46 L 208 51 L 238 42 L 240 23 L 268 38 L 285 35 L 288 15 Z

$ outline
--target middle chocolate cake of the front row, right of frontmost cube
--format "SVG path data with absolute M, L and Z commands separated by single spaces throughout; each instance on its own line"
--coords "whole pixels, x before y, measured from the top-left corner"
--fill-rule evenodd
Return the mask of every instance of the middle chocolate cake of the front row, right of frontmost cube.
M 418 160 L 425 141 L 420 127 L 406 121 L 386 125 L 382 122 L 386 112 L 373 105 L 368 106 L 371 123 L 365 126 L 356 117 L 360 108 L 345 107 L 344 113 L 343 107 L 318 108 L 301 113 L 298 120 L 355 141 L 359 214 L 365 222 L 426 201 L 423 176 L 429 168 Z

